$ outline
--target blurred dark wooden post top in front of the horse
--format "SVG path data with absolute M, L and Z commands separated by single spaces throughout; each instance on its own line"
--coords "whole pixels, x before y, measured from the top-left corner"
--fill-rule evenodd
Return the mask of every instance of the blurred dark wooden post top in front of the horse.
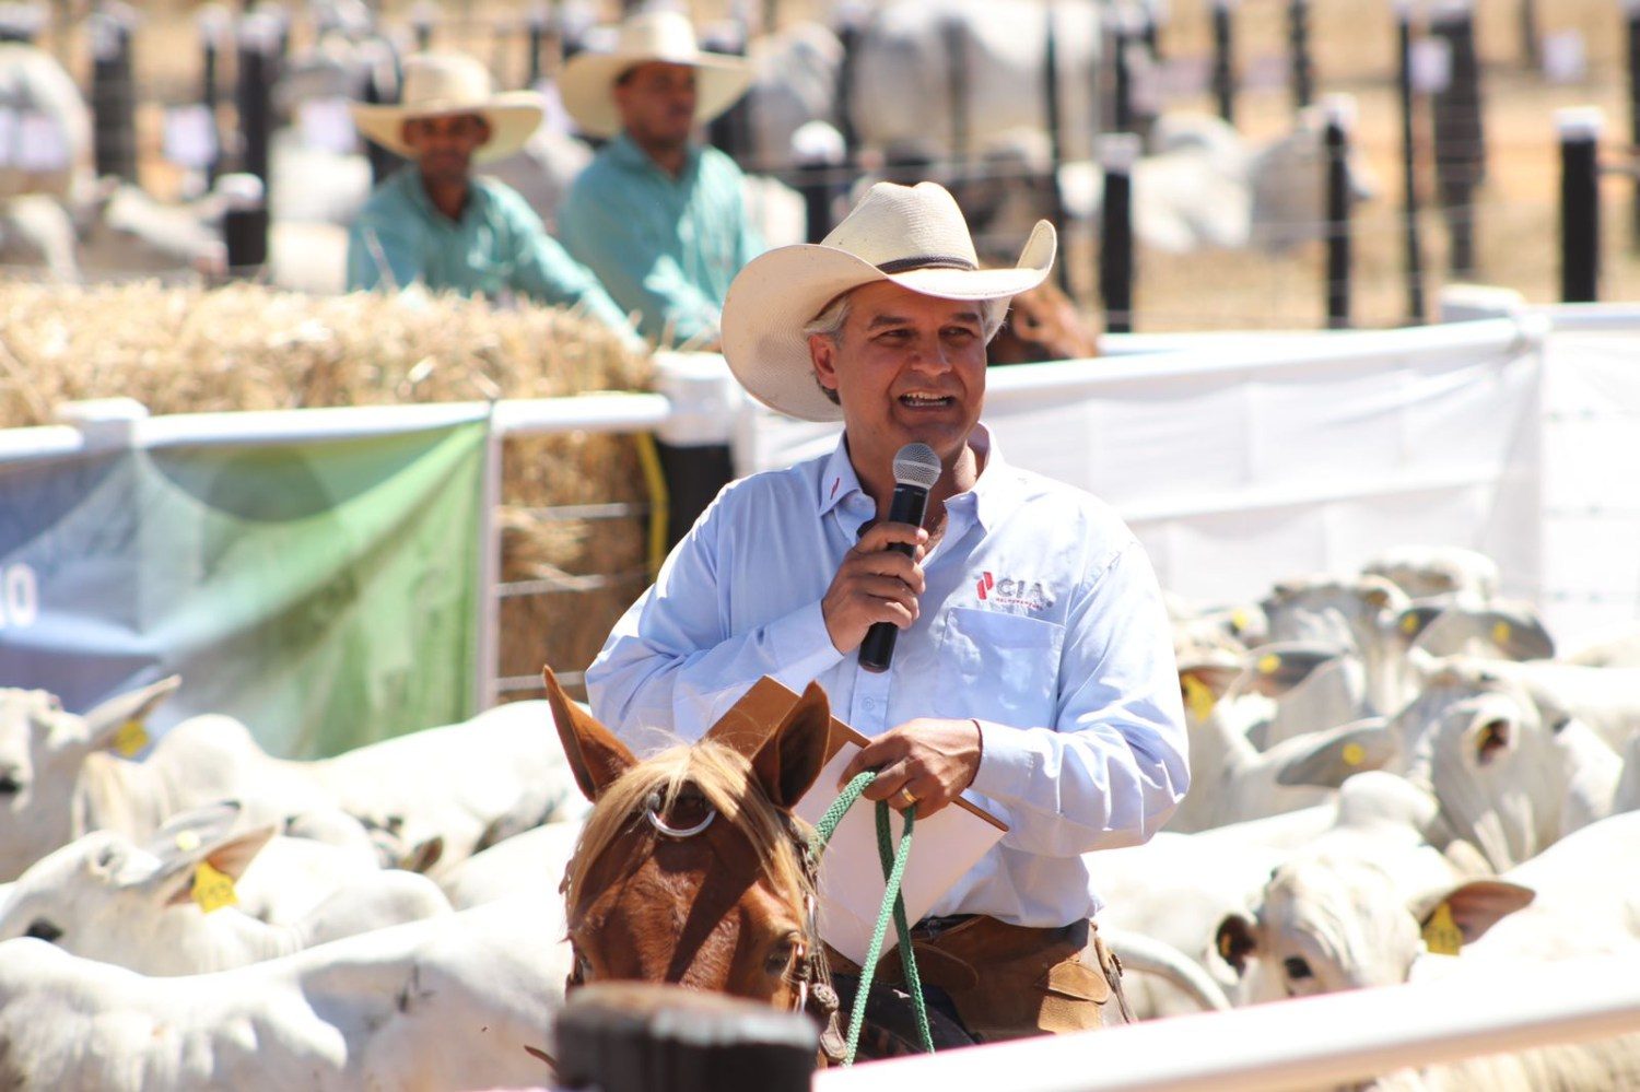
M 569 994 L 554 1040 L 558 1081 L 600 1092 L 809 1092 L 820 1051 L 804 1013 L 648 982 Z

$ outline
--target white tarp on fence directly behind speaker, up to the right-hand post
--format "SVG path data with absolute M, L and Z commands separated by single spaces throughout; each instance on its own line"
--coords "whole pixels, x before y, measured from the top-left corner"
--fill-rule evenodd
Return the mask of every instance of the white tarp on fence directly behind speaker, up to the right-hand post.
M 994 369 L 1007 457 L 1110 502 L 1163 584 L 1200 600 L 1350 572 L 1404 543 L 1486 551 L 1535 595 L 1542 320 L 1238 339 Z M 836 426 L 751 407 L 736 471 L 828 449 Z

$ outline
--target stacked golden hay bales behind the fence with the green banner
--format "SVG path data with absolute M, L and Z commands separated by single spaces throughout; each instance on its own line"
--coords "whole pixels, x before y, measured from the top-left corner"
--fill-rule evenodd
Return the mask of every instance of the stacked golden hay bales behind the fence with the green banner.
M 649 374 L 602 325 L 559 308 L 251 284 L 0 284 L 0 428 L 46 425 L 64 402 L 113 395 L 162 415 L 643 390 Z M 510 439 L 503 467 L 503 580 L 643 569 L 643 518 L 530 512 L 646 500 L 631 438 Z M 581 671 L 641 590 L 636 579 L 503 602 L 502 674 Z

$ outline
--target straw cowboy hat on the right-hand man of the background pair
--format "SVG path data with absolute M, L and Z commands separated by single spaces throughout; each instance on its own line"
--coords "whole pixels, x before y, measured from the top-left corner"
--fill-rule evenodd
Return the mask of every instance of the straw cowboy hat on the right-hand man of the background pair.
M 649 61 L 695 71 L 695 125 L 718 116 L 751 85 L 751 66 L 727 52 L 705 52 L 681 11 L 641 11 L 620 25 L 610 52 L 577 52 L 558 77 L 564 108 L 589 136 L 620 133 L 615 80 Z

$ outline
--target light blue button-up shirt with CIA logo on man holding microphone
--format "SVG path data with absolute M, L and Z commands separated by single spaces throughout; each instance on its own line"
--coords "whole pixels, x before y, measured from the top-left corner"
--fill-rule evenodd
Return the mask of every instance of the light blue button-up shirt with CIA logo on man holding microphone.
M 989 446 L 984 430 L 974 439 Z M 917 621 L 872 674 L 831 644 L 820 600 L 874 516 L 846 441 L 728 485 L 587 671 L 594 713 L 646 753 L 700 738 L 768 674 L 799 692 L 818 680 L 868 736 L 973 717 L 984 756 L 963 795 L 1010 830 L 930 913 L 1091 917 L 1081 854 L 1145 841 L 1189 787 L 1150 561 L 1104 502 L 991 446 L 974 487 L 946 502 Z

